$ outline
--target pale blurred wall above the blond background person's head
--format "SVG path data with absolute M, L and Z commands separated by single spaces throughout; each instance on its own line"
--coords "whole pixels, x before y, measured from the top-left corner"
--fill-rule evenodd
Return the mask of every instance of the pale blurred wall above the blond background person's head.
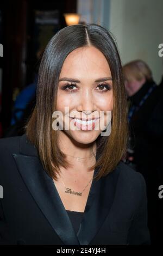
M 160 82 L 163 62 L 158 46 L 163 43 L 163 1 L 110 0 L 109 29 L 115 35 L 122 64 L 143 59 L 152 69 L 154 80 Z

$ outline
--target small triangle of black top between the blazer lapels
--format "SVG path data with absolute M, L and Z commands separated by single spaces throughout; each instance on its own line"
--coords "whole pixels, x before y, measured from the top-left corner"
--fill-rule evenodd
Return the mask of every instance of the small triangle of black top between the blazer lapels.
M 69 211 L 69 210 L 66 210 L 66 212 L 68 214 L 68 217 L 70 218 L 70 221 L 72 223 L 75 233 L 77 233 L 80 223 L 82 222 L 84 212 Z

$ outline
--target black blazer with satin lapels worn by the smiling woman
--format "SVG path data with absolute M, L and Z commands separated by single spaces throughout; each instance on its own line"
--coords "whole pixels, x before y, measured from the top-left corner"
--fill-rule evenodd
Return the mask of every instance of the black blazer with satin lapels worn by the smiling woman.
M 92 181 L 76 234 L 52 178 L 26 135 L 1 138 L 0 151 L 1 244 L 150 244 L 145 180 L 123 162 Z

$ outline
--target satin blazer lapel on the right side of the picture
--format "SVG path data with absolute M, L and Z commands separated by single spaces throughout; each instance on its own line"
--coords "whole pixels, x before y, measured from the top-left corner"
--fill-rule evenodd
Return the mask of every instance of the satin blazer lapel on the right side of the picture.
M 108 216 L 114 200 L 119 169 L 92 182 L 83 220 L 77 233 L 80 245 L 89 245 Z

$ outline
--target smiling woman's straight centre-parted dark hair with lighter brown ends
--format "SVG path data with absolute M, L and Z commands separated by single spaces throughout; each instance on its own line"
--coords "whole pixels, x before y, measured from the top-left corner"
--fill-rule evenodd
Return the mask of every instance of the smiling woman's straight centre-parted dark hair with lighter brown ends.
M 62 28 L 48 42 L 42 54 L 36 90 L 36 105 L 27 120 L 26 136 L 33 143 L 47 174 L 57 180 L 60 167 L 70 167 L 66 155 L 59 148 L 58 131 L 52 128 L 52 113 L 56 110 L 59 76 L 64 60 L 79 47 L 94 46 L 108 61 L 112 82 L 114 107 L 109 136 L 96 139 L 96 163 L 89 170 L 98 168 L 94 179 L 112 172 L 126 152 L 128 141 L 127 96 L 123 83 L 122 65 L 116 42 L 111 33 L 94 23 Z

